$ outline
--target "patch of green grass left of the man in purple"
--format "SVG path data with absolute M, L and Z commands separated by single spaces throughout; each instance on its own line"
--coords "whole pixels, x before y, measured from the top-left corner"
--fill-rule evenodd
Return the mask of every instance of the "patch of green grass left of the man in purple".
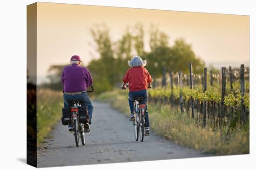
M 61 120 L 63 95 L 61 92 L 40 89 L 37 96 L 37 144 L 40 145 Z

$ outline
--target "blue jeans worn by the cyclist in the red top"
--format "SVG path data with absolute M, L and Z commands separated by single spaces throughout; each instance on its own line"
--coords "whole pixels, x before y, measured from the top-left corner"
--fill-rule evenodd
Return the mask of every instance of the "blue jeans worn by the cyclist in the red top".
M 129 107 L 131 110 L 131 113 L 134 112 L 134 104 L 133 101 L 135 101 L 135 97 L 144 97 L 143 101 L 141 101 L 141 104 L 146 104 L 146 118 L 145 118 L 145 122 L 146 122 L 146 127 L 149 127 L 149 118 L 148 118 L 148 108 L 147 108 L 147 102 L 148 102 L 148 90 L 140 90 L 140 91 L 133 91 L 133 92 L 129 92 L 128 94 L 129 96 Z

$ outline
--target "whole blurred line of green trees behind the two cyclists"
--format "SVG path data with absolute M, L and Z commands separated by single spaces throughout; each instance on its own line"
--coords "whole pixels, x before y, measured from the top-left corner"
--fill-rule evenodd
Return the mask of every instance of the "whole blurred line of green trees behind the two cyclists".
M 95 25 L 90 29 L 93 37 L 94 50 L 99 57 L 92 59 L 86 66 L 93 77 L 93 86 L 96 94 L 119 87 L 122 77 L 126 73 L 128 60 L 134 55 L 147 60 L 149 73 L 158 78 L 162 76 L 163 66 L 169 66 L 172 71 L 182 70 L 188 74 L 189 63 L 193 64 L 194 73 L 201 73 L 205 67 L 204 61 L 195 55 L 191 44 L 185 39 L 178 38 L 174 44 L 169 44 L 168 35 L 160 31 L 155 25 L 150 25 L 148 44 L 149 51 L 145 50 L 145 29 L 143 25 L 136 24 L 133 27 L 127 27 L 124 33 L 117 41 L 113 41 L 110 36 L 108 26 Z M 43 84 L 44 88 L 61 90 L 61 72 L 65 65 L 52 65 L 49 68 L 49 83 Z

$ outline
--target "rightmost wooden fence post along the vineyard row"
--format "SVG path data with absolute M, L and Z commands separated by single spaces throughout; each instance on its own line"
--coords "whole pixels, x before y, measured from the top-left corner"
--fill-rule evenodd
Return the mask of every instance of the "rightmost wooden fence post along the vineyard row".
M 245 92 L 244 64 L 241 64 L 241 67 L 240 67 L 240 82 L 241 82 L 241 121 L 244 124 L 246 121 L 245 105 L 244 105 L 244 101 L 243 101 L 243 96 L 244 96 L 244 92 Z

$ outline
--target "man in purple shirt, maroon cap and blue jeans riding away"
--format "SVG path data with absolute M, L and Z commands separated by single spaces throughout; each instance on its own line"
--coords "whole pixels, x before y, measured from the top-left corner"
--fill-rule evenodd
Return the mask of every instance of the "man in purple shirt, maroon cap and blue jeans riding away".
M 87 106 L 90 121 L 84 126 L 85 132 L 90 132 L 89 124 L 92 121 L 93 105 L 86 90 L 92 85 L 92 76 L 87 68 L 81 67 L 79 56 L 72 56 L 70 60 L 71 65 L 64 67 L 61 74 L 64 107 L 71 107 L 72 101 L 79 101 L 81 106 Z M 68 125 L 68 130 L 73 131 L 73 127 Z

